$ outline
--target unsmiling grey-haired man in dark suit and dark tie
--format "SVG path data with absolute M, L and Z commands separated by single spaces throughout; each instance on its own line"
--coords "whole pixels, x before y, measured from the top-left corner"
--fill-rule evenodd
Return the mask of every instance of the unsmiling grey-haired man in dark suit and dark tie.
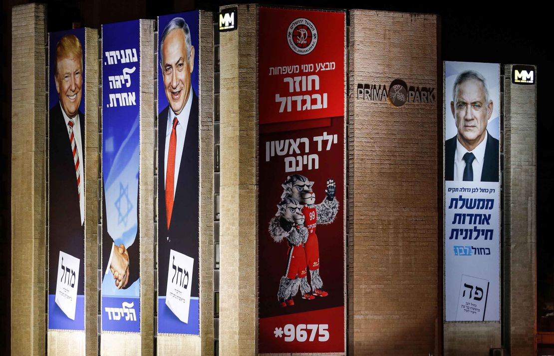
M 444 143 L 445 180 L 499 181 L 499 141 L 487 131 L 493 107 L 482 74 L 465 70 L 456 77 L 450 110 L 458 133 Z

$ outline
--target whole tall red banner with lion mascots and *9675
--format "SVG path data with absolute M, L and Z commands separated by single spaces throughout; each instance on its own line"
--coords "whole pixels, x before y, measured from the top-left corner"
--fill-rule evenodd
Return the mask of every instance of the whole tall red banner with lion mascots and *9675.
M 260 7 L 258 35 L 259 352 L 344 352 L 345 13 Z

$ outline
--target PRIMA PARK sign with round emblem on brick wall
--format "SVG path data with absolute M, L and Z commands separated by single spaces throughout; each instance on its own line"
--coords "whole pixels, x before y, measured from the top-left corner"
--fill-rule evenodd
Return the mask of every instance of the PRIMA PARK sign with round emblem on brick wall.
M 356 99 L 368 101 L 388 101 L 393 106 L 406 103 L 435 104 L 435 88 L 408 85 L 402 79 L 394 79 L 391 84 L 358 83 Z

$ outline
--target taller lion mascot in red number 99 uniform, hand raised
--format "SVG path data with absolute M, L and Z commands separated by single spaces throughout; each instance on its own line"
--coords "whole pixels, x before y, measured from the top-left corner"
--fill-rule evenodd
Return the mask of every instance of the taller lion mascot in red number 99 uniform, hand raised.
M 335 199 L 335 181 L 327 180 L 327 196 L 317 205 L 315 203 L 315 193 L 312 191 L 314 182 L 311 182 L 305 176 L 293 174 L 288 176 L 283 184 L 283 195 L 281 199 L 292 198 L 300 202 L 302 213 L 305 217 L 305 225 L 308 230 L 308 237 L 304 243 L 306 252 L 307 266 L 310 269 L 310 283 L 312 295 L 317 297 L 326 297 L 329 293 L 325 292 L 323 281 L 319 274 L 319 243 L 317 241 L 317 224 L 330 224 L 335 220 L 338 212 L 338 201 Z

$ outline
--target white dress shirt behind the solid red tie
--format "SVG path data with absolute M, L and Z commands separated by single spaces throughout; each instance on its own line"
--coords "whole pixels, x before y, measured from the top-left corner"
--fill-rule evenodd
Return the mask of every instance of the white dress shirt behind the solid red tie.
M 175 199 L 175 192 L 177 191 L 177 179 L 179 177 L 179 168 L 181 167 L 181 157 L 183 155 L 183 146 L 184 146 L 184 136 L 187 134 L 187 125 L 188 125 L 188 116 L 191 114 L 191 106 L 192 106 L 192 88 L 188 92 L 188 99 L 187 103 L 184 104 L 183 110 L 181 110 L 181 114 L 175 115 L 173 113 L 173 110 L 171 109 L 167 115 L 167 128 L 166 128 L 166 147 L 165 147 L 165 154 L 163 159 L 163 176 L 166 177 L 167 180 L 167 155 L 170 151 L 170 139 L 171 139 L 171 131 L 173 130 L 173 118 L 177 116 L 177 120 L 179 123 L 177 124 L 177 127 L 175 128 L 175 131 L 177 133 L 177 150 L 175 151 L 175 175 L 173 176 L 173 199 Z M 163 182 L 163 187 L 165 189 L 166 182 Z

